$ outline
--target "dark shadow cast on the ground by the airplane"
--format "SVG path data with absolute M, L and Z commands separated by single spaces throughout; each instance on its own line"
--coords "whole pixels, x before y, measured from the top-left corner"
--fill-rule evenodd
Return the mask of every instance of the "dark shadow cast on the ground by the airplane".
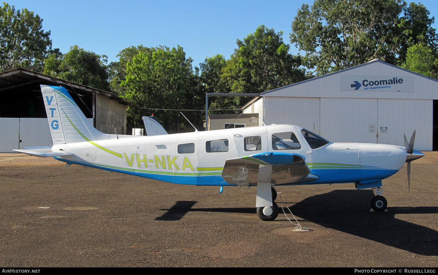
M 438 207 L 388 207 L 388 212 L 370 212 L 373 196 L 371 190 L 334 190 L 308 197 L 290 210 L 294 215 L 326 228 L 420 255 L 438 255 L 436 230 L 395 218 L 395 214 L 436 214 Z M 194 204 L 196 201 L 179 201 L 169 210 L 162 209 L 168 211 L 155 220 L 176 221 L 189 211 L 255 214 L 255 207 L 192 209 Z

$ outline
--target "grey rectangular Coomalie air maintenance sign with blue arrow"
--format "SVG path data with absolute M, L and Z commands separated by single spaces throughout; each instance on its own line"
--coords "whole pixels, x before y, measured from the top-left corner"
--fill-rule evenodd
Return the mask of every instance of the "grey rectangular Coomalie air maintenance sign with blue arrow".
M 341 90 L 413 93 L 413 81 L 413 77 L 399 75 L 341 75 Z

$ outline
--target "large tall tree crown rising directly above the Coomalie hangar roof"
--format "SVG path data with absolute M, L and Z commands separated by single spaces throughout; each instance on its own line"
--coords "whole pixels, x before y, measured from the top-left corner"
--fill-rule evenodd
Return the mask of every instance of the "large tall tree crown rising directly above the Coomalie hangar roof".
M 291 43 L 306 52 L 316 75 L 380 58 L 396 63 L 401 0 L 315 0 L 303 4 L 292 22 Z

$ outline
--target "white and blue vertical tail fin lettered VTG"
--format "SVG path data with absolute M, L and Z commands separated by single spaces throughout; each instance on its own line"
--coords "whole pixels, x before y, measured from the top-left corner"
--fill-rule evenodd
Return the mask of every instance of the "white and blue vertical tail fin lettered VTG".
M 62 86 L 40 86 L 53 144 L 111 138 L 93 127 L 67 89 Z

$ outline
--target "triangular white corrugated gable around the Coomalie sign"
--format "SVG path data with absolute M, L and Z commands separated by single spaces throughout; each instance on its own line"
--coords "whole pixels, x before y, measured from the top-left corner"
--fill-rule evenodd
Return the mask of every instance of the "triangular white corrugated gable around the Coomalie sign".
M 363 77 L 363 78 L 361 78 Z M 399 89 L 364 90 L 362 81 L 405 79 Z M 361 89 L 355 89 L 359 82 Z M 409 82 L 409 85 L 407 85 Z M 365 82 L 368 84 L 369 82 Z M 351 89 L 350 89 L 351 86 Z M 438 80 L 400 68 L 377 58 L 365 64 L 360 64 L 341 71 L 315 77 L 288 86 L 273 89 L 261 96 L 292 96 L 292 97 L 339 97 L 339 98 L 399 98 L 399 99 L 438 99 Z

